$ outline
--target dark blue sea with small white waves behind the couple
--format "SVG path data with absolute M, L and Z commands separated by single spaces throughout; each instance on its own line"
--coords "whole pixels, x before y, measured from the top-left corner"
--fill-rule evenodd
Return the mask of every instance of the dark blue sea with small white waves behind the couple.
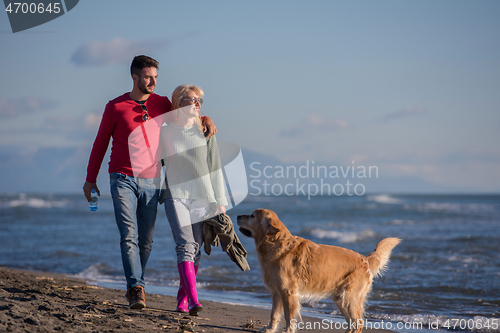
M 385 274 L 374 280 L 365 315 L 372 327 L 500 332 L 500 195 L 249 195 L 228 214 L 236 225 L 237 215 L 257 208 L 276 211 L 294 235 L 364 255 L 386 237 L 402 239 Z M 220 248 L 204 253 L 200 299 L 270 309 L 253 239 L 237 233 L 251 270 L 242 272 Z M 92 212 L 83 194 L 0 194 L 0 266 L 125 289 L 111 198 L 100 197 Z M 179 284 L 163 206 L 146 283 L 147 292 L 172 296 Z M 329 299 L 303 304 L 303 314 L 343 321 Z

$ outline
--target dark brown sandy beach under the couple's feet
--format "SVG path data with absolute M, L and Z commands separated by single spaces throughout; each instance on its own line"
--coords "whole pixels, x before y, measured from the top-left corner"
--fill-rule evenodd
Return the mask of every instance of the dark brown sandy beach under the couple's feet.
M 203 312 L 191 317 L 175 312 L 174 297 L 154 294 L 146 294 L 147 308 L 131 310 L 123 294 L 123 290 L 96 287 L 61 274 L 1 267 L 0 331 L 256 332 L 270 316 L 266 309 L 203 301 Z M 343 332 L 335 328 L 304 331 Z

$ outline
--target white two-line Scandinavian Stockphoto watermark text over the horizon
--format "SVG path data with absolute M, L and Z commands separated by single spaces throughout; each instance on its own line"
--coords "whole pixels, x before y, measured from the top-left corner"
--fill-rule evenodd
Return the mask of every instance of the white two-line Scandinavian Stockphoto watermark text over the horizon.
M 296 165 L 250 164 L 249 187 L 253 196 L 362 196 L 366 193 L 364 180 L 378 178 L 377 166 L 317 165 L 307 160 Z

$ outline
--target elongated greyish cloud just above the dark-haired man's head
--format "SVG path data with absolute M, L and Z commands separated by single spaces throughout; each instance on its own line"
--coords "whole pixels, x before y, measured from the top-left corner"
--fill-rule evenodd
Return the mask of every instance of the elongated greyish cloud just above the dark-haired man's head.
M 71 62 L 81 67 L 129 64 L 136 55 L 152 54 L 166 46 L 166 39 L 127 41 L 117 37 L 80 46 L 71 56 Z

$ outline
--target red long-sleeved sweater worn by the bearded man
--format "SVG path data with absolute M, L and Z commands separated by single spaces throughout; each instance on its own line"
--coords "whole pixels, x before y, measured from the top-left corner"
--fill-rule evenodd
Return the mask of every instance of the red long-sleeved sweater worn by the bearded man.
M 156 94 L 151 94 L 144 105 L 148 108 L 151 120 L 169 112 L 172 108 L 172 103 L 170 103 L 167 97 Z M 128 176 L 137 176 L 137 174 L 134 175 L 130 161 L 129 136 L 137 127 L 140 127 L 141 123 L 144 123 L 142 120 L 142 109 L 137 102 L 130 98 L 128 93 L 106 104 L 101 125 L 99 126 L 92 152 L 90 153 L 86 179 L 88 182 L 97 182 L 97 175 L 99 174 L 99 169 L 101 168 L 102 160 L 108 149 L 111 137 L 113 138 L 113 143 L 111 146 L 109 173 L 120 172 Z M 158 146 L 159 137 L 148 135 L 148 140 L 152 145 Z M 145 145 L 141 147 L 146 149 Z M 140 177 L 157 177 L 159 169 L 157 168 L 157 163 L 155 162 L 150 168 L 143 170 Z

